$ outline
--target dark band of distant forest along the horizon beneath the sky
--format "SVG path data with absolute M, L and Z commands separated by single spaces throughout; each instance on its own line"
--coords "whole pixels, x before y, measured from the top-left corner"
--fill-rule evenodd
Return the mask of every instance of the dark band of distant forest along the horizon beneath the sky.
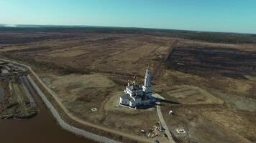
M 147 34 L 152 36 L 172 36 L 182 39 L 210 41 L 218 43 L 256 43 L 256 34 L 237 34 L 208 31 L 185 31 L 171 29 L 144 29 L 100 26 L 35 26 L 35 27 L 1 27 L 0 44 L 18 44 L 45 39 L 63 39 L 83 34 Z M 4 36 L 4 34 L 8 36 Z M 9 35 L 13 33 L 14 35 Z M 24 33 L 17 36 L 16 33 Z M 42 34 L 44 36 L 26 36 L 26 34 Z M 54 34 L 53 34 L 54 33 Z M 58 34 L 56 34 L 58 33 Z

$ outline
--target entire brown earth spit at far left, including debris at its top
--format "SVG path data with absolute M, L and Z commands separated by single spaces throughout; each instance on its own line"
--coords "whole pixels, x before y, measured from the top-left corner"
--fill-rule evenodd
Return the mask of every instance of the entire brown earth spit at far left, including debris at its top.
M 28 119 L 38 110 L 26 69 L 0 61 L 0 119 Z

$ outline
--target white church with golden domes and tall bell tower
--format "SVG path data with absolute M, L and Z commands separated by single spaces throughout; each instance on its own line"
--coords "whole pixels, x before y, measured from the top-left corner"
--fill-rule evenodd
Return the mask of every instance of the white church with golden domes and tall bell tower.
M 127 87 L 120 97 L 119 104 L 132 108 L 151 104 L 154 98 L 152 97 L 150 82 L 150 69 L 147 67 L 144 84 L 142 86 L 139 85 L 136 76 L 134 76 L 132 83 L 128 81 Z

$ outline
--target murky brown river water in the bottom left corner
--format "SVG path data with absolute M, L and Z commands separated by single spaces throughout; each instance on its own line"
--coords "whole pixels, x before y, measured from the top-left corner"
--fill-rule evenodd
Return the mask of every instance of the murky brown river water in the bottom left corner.
M 61 129 L 40 97 L 34 97 L 40 112 L 31 119 L 0 119 L 1 143 L 81 143 L 93 142 Z

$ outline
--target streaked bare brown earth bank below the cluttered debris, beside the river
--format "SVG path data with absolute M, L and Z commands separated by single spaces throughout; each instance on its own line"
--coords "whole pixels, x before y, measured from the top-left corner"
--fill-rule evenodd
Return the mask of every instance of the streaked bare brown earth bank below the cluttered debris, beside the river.
M 12 75 L 0 80 L 2 89 L 0 119 L 29 119 L 34 117 L 38 110 L 27 86 L 19 76 Z

